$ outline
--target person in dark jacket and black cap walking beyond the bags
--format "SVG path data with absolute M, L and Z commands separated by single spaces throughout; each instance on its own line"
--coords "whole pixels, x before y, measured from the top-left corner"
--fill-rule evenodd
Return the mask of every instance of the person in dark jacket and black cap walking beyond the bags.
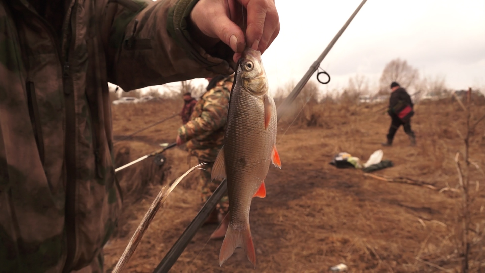
M 411 100 L 411 96 L 407 93 L 406 89 L 402 88 L 398 83 L 393 82 L 391 84 L 391 95 L 389 98 L 389 108 L 388 108 L 388 114 L 391 117 L 391 125 L 389 127 L 389 133 L 388 133 L 388 141 L 385 143 L 382 143 L 383 146 L 391 146 L 392 145 L 392 140 L 394 139 L 394 135 L 396 135 L 397 130 L 399 129 L 399 126 L 403 125 L 404 127 L 404 132 L 409 136 L 409 139 L 411 140 L 411 145 L 414 146 L 416 145 L 416 137 L 414 135 L 414 132 L 411 130 L 411 118 L 412 112 L 406 117 L 399 117 L 396 111 L 399 111 L 403 109 L 406 105 L 410 106 L 410 108 L 407 108 L 409 110 L 407 111 L 412 111 L 412 108 L 414 106 L 413 101 Z M 399 110 L 398 110 L 399 109 Z M 403 110 L 406 111 L 406 110 Z M 404 116 L 404 115 L 401 115 Z

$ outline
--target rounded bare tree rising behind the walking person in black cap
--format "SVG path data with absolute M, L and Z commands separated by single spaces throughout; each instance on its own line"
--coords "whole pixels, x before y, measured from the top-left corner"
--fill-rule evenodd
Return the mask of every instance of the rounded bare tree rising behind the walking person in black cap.
M 386 65 L 379 84 L 381 90 L 387 90 L 392 82 L 398 82 L 402 87 L 409 88 L 418 79 L 418 69 L 408 65 L 407 61 L 397 58 Z

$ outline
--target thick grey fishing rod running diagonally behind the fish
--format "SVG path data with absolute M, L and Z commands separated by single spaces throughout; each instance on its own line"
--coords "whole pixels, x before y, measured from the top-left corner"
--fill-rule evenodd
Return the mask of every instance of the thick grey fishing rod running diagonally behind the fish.
M 352 19 L 356 16 L 360 8 L 364 5 L 364 3 L 367 0 L 363 0 L 360 5 L 357 7 L 356 11 L 352 14 L 352 16 L 347 20 L 347 22 L 343 25 L 343 27 L 340 29 L 339 33 L 335 35 L 333 40 L 330 42 L 330 44 L 325 48 L 325 50 L 322 52 L 320 57 L 313 63 L 313 65 L 308 69 L 307 73 L 303 78 L 300 80 L 300 82 L 293 88 L 291 91 L 290 95 L 283 101 L 283 103 L 278 107 L 277 109 L 277 119 L 281 119 L 283 114 L 286 112 L 286 109 L 288 109 L 288 106 L 291 105 L 291 103 L 296 99 L 300 91 L 303 89 L 303 86 L 305 86 L 310 79 L 311 75 L 317 70 L 317 68 L 320 66 L 320 63 L 323 61 L 323 58 L 327 55 L 327 53 L 332 49 L 333 45 L 337 42 L 339 39 L 340 35 L 345 31 L 347 26 L 350 24 Z M 189 242 L 194 238 L 195 233 L 197 230 L 202 226 L 204 221 L 209 217 L 209 214 L 214 210 L 215 206 L 217 203 L 219 203 L 219 200 L 221 200 L 222 196 L 226 192 L 227 189 L 227 183 L 226 179 L 224 179 L 221 184 L 219 184 L 219 187 L 216 188 L 214 193 L 209 197 L 207 202 L 204 204 L 204 206 L 199 210 L 197 215 L 195 216 L 194 220 L 189 224 L 189 226 L 184 230 L 182 235 L 178 238 L 178 240 L 175 242 L 175 244 L 172 246 L 172 248 L 167 252 L 167 254 L 163 257 L 162 261 L 160 261 L 159 265 L 155 268 L 153 271 L 154 273 L 166 273 L 168 272 L 172 266 L 175 264 L 177 261 L 178 257 L 182 254 L 182 252 L 185 250 Z

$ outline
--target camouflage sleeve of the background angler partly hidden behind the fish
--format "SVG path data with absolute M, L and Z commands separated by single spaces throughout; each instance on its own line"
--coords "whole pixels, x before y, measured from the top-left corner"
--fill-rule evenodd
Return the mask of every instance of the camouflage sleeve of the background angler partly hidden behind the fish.
M 224 98 L 210 95 L 206 98 L 200 117 L 194 118 L 178 128 L 178 136 L 188 141 L 196 136 L 205 137 L 219 130 L 226 124 L 227 104 Z

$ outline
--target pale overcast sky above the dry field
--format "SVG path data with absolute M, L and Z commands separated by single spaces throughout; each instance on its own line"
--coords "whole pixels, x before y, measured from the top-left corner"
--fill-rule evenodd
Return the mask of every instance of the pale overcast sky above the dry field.
M 361 0 L 276 0 L 281 30 L 262 55 L 268 81 L 298 82 Z M 485 88 L 484 0 L 367 0 L 323 60 L 332 77 L 323 92 L 365 75 L 370 86 L 401 58 L 420 76 L 444 76 L 448 87 Z M 312 77 L 315 79 L 315 75 Z M 205 80 L 195 84 L 207 85 Z

